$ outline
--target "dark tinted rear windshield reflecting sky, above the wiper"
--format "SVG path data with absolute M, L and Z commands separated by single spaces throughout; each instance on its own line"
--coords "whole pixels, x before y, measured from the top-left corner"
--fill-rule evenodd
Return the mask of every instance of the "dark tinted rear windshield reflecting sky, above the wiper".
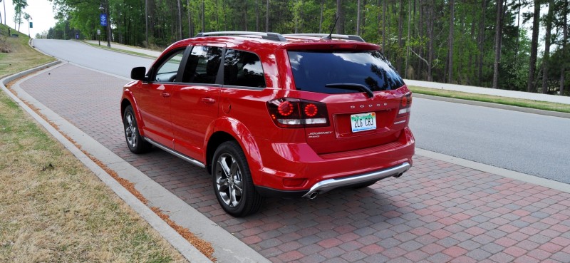
M 327 84 L 350 83 L 371 91 L 390 91 L 404 81 L 380 51 L 289 51 L 289 60 L 299 91 L 354 93 L 327 88 Z

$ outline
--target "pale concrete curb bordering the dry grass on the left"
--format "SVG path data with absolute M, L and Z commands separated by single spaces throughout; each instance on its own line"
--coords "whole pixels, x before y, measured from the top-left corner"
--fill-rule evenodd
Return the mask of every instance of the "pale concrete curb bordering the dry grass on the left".
M 172 227 L 170 227 L 170 225 L 168 225 L 164 220 L 162 220 L 160 217 L 158 217 L 155 214 L 155 212 L 152 212 L 152 210 L 150 210 L 149 207 L 147 207 L 145 204 L 140 202 L 140 200 L 138 200 L 137 197 L 135 197 L 133 194 L 128 192 L 128 190 L 126 190 L 122 185 L 120 185 L 117 181 L 115 181 L 115 179 L 113 179 L 113 177 L 111 177 L 107 172 L 105 172 L 105 170 L 101 169 L 101 167 L 99 167 L 97 164 L 95 164 L 93 162 L 93 160 L 88 158 L 87 155 L 85 155 L 81 150 L 79 150 L 76 147 L 76 145 L 71 143 L 65 136 L 63 136 L 58 130 L 56 130 L 56 128 L 53 128 L 50 123 L 46 122 L 46 120 L 43 120 L 43 118 L 41 118 L 40 115 L 38 115 L 36 112 L 34 112 L 31 108 L 28 107 L 28 105 L 26 105 L 26 103 L 24 103 L 19 97 L 15 96 L 13 93 L 11 93 L 8 90 L 8 88 L 6 88 L 6 83 L 14 81 L 17 78 L 21 78 L 23 76 L 29 75 L 26 78 L 21 80 L 21 81 L 25 81 L 28 78 L 35 76 L 35 74 L 32 74 L 32 73 L 38 73 L 39 71 L 42 71 L 43 69 L 46 69 L 50 66 L 57 65 L 58 63 L 61 63 L 61 61 L 48 63 L 46 65 L 39 66 L 37 68 L 32 68 L 32 69 L 29 69 L 27 71 L 23 71 L 21 73 L 16 73 L 12 76 L 2 78 L 0 80 L 0 88 L 6 94 L 8 94 L 8 96 L 10 96 L 12 98 L 12 100 L 14 100 L 16 103 L 18 103 L 21 106 L 21 108 L 23 108 L 29 115 L 31 115 L 32 118 L 34 118 L 40 125 L 42 125 L 43 128 L 45 128 L 48 131 L 48 133 L 53 135 L 53 137 L 56 138 L 56 140 L 58 140 L 65 148 L 67 148 L 73 155 L 75 155 L 76 158 L 78 158 L 78 160 L 80 160 L 81 163 L 83 163 L 83 165 L 86 165 L 86 167 L 88 167 L 91 171 L 93 171 L 95 173 L 95 175 L 97 175 L 97 177 L 100 178 L 100 180 L 105 182 L 105 185 L 108 185 L 108 187 L 110 187 L 110 189 L 113 190 L 113 192 L 115 192 L 115 194 L 117 194 L 121 199 L 123 199 L 127 203 L 127 205 L 132 207 L 133 210 L 135 210 L 135 212 L 138 212 L 138 214 L 142 218 L 144 218 L 155 230 L 157 230 L 157 232 L 159 232 L 162 235 L 162 237 L 164 237 L 167 240 L 167 242 L 172 244 L 172 246 L 175 247 L 180 252 L 180 254 L 182 254 L 182 256 L 184 256 L 186 259 L 188 259 L 188 261 L 191 261 L 191 262 L 207 262 L 207 263 L 212 262 L 207 257 L 205 257 L 204 254 L 199 252 L 198 249 L 196 249 L 189 242 L 187 242 L 187 240 L 184 239 L 184 237 L 182 237 L 174 229 L 172 229 Z M 61 65 L 63 65 L 63 64 L 61 64 Z M 19 82 L 21 82 L 21 81 L 19 81 Z M 14 84 L 14 86 L 17 86 L 18 83 Z M 18 93 L 20 93 L 20 92 L 18 92 Z M 61 118 L 61 117 L 53 118 L 54 117 L 53 114 L 55 114 L 55 113 L 51 114 L 51 113 L 47 112 L 46 111 L 47 108 L 44 105 L 41 105 L 41 103 L 39 103 L 37 100 L 33 99 L 31 96 L 27 95 L 26 100 L 29 103 L 32 103 L 33 105 L 38 107 L 38 109 L 43 114 L 48 116 L 48 118 L 50 120 L 52 120 L 54 123 L 56 123 L 59 128 L 62 128 L 62 129 L 70 128 L 69 126 L 71 125 L 71 123 L 66 123 L 66 120 L 63 120 L 63 118 Z M 51 111 L 51 110 L 49 110 L 49 111 Z M 73 125 L 71 125 L 71 126 L 73 126 Z M 91 140 L 93 140 L 93 139 L 91 139 Z

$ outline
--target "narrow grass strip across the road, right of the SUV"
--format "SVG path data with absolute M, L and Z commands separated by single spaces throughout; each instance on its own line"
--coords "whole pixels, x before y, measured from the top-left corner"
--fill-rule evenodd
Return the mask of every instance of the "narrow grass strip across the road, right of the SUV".
M 551 103 L 539 100 L 524 100 L 520 98 L 505 98 L 484 94 L 465 93 L 460 91 L 447 91 L 437 88 L 423 88 L 418 86 L 408 86 L 413 93 L 439 96 L 445 98 L 458 98 L 462 100 L 475 100 L 486 103 L 497 103 L 502 105 L 512 105 L 524 108 L 534 108 L 537 110 L 551 110 L 561 113 L 570 113 L 570 105 L 562 103 Z

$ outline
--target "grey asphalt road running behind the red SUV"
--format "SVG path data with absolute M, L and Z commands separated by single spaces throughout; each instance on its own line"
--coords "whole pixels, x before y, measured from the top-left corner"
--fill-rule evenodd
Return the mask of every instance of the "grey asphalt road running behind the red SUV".
M 131 68 L 152 63 L 76 41 L 38 39 L 34 45 L 127 78 Z M 415 98 L 410 123 L 418 148 L 570 183 L 570 119 Z

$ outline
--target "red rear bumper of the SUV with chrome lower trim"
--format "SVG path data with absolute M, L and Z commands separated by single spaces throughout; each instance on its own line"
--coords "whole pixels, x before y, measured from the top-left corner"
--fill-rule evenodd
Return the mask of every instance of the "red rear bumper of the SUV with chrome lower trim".
M 408 128 L 393 143 L 328 155 L 316 154 L 306 143 L 258 145 L 263 158 L 252 177 L 260 194 L 299 197 L 400 175 L 412 166 L 415 150 Z

